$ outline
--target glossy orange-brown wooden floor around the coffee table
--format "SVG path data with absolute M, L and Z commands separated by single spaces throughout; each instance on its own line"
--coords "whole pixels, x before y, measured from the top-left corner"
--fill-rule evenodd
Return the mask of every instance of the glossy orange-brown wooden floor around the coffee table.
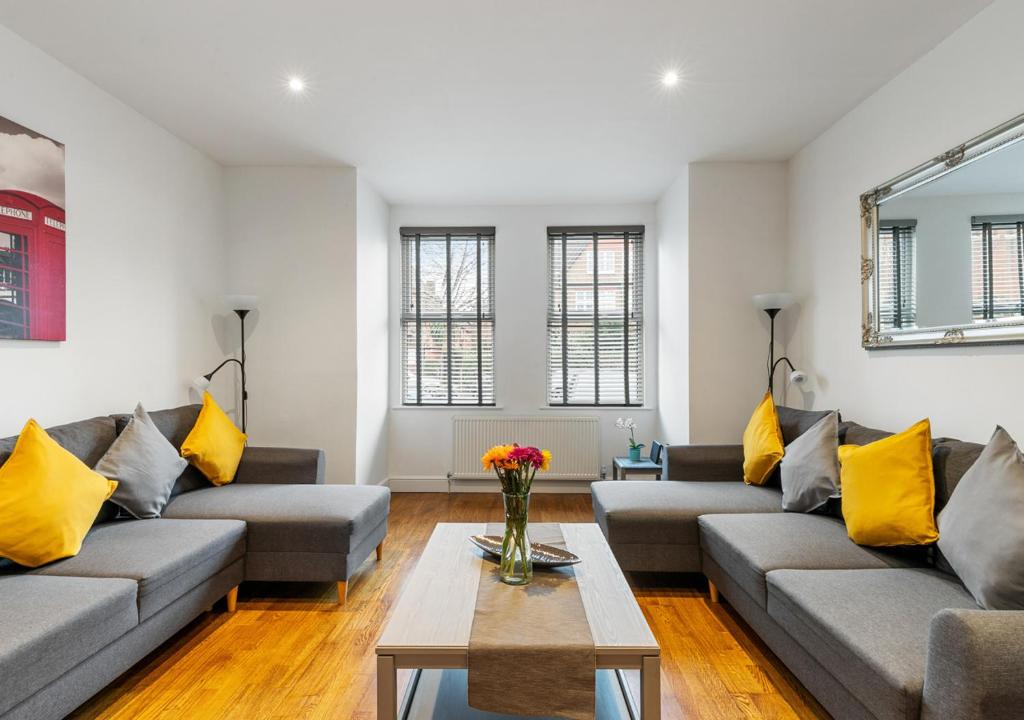
M 537 495 L 537 521 L 593 521 L 589 495 Z M 384 560 L 368 560 L 337 604 L 334 585 L 246 584 L 75 718 L 376 717 L 374 646 L 435 522 L 501 521 L 495 495 L 395 494 Z M 663 718 L 827 718 L 699 579 L 632 576 L 662 646 Z

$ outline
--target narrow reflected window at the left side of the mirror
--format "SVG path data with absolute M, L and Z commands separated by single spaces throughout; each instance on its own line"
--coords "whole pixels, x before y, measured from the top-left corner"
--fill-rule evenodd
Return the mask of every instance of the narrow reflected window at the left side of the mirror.
M 884 330 L 918 324 L 916 220 L 881 220 L 877 291 Z

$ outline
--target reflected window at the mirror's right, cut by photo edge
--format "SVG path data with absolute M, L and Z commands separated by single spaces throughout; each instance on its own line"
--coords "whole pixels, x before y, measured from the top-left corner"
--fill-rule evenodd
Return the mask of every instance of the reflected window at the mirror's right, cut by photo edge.
M 1024 215 L 971 218 L 975 323 L 1024 315 Z

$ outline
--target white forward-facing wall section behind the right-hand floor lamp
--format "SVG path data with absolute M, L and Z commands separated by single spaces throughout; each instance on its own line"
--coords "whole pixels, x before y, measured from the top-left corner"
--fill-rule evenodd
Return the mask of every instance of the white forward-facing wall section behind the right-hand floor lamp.
M 751 298 L 786 290 L 786 172 L 785 163 L 689 166 L 691 442 L 738 442 L 767 388 L 768 317 Z M 785 335 L 776 327 L 776 357 Z

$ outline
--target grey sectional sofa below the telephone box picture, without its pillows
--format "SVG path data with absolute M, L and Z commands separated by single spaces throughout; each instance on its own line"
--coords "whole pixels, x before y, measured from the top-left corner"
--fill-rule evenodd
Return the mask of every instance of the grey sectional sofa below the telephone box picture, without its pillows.
M 177 448 L 199 406 L 151 413 Z M 129 416 L 48 429 L 90 467 Z M 0 463 L 16 438 L 0 440 Z M 28 569 L 0 559 L 0 720 L 60 718 L 245 580 L 347 581 L 387 535 L 385 488 L 325 485 L 315 450 L 247 448 L 234 482 L 191 466 L 164 517 L 103 506 L 75 557 Z

